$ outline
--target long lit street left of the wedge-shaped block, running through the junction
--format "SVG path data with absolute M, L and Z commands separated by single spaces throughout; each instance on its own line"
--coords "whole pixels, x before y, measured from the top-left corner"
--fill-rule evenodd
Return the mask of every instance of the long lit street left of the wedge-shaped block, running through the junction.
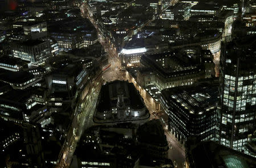
M 94 23 L 92 18 L 90 18 L 89 15 L 87 16 L 91 22 Z M 96 26 L 96 24 L 94 24 L 94 26 Z M 100 34 L 100 31 L 98 31 L 98 33 L 98 41 L 100 41 L 102 46 L 104 46 L 106 49 L 106 52 L 109 54 L 109 63 L 111 64 L 110 68 L 106 69 L 103 73 L 104 81 L 114 81 L 117 79 L 124 80 L 124 75 L 120 71 L 121 63 L 117 57 L 117 52 L 107 41 L 104 41 L 101 38 L 102 35 Z M 81 114 L 79 116 L 74 117 L 72 127 L 69 129 L 69 135 L 67 136 L 69 137 L 69 141 L 65 142 L 63 145 L 63 157 L 61 157 L 60 164 L 57 165 L 57 167 L 68 167 L 70 165 L 73 153 L 75 152 L 77 142 L 80 140 L 82 132 L 93 125 L 92 119 L 96 108 L 97 95 L 98 92 L 93 94 L 93 99 L 91 100 L 90 104 L 81 109 Z

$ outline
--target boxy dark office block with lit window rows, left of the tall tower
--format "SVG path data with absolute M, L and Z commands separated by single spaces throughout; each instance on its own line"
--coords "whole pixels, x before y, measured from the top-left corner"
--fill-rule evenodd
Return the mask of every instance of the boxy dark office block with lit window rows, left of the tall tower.
M 191 86 L 161 91 L 160 103 L 168 115 L 168 129 L 184 143 L 189 136 L 216 140 L 218 83 L 209 79 Z

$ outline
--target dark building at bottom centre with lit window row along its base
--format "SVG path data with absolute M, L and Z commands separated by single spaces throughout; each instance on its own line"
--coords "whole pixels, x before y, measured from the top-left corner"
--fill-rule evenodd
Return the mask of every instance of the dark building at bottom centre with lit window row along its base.
M 71 165 L 138 167 L 140 154 L 134 141 L 135 127 L 130 123 L 91 127 L 83 133 Z

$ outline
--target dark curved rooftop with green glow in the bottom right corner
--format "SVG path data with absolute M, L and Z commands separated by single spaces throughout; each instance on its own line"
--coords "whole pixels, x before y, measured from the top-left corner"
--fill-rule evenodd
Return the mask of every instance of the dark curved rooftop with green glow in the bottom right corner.
M 189 167 L 256 167 L 256 160 L 246 154 L 237 152 L 213 141 L 204 141 L 188 147 L 187 158 Z

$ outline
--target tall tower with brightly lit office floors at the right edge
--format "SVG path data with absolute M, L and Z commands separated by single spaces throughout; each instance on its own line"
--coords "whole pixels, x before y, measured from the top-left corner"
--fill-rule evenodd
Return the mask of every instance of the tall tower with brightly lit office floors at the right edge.
M 256 128 L 256 40 L 222 46 L 220 144 L 243 152 Z

